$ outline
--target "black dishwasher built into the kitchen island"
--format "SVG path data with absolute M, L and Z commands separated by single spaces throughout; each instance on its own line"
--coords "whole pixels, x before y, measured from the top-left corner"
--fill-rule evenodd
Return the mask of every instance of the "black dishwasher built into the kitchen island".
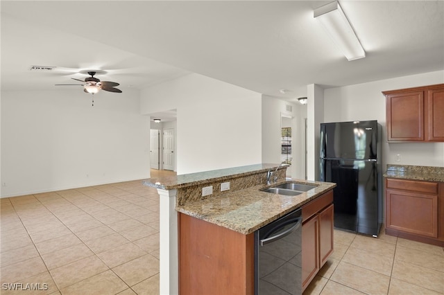
M 255 295 L 301 294 L 301 265 L 300 209 L 255 231 Z

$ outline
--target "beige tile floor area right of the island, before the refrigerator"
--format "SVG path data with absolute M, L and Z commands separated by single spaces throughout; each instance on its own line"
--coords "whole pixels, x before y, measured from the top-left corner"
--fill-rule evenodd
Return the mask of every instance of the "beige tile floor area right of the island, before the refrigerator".
M 334 253 L 307 294 L 444 294 L 444 249 L 334 230 Z

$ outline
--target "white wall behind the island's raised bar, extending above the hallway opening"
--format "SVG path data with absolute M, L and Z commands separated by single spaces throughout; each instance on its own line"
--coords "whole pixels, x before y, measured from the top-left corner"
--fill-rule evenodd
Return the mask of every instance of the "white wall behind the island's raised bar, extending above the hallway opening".
M 178 175 L 261 163 L 261 94 L 190 74 L 141 92 L 141 114 L 177 109 Z

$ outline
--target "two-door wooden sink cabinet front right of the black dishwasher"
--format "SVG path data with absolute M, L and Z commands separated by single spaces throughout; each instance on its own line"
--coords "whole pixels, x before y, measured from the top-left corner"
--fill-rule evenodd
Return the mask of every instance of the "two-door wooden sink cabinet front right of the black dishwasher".
M 302 207 L 302 291 L 333 252 L 333 191 Z

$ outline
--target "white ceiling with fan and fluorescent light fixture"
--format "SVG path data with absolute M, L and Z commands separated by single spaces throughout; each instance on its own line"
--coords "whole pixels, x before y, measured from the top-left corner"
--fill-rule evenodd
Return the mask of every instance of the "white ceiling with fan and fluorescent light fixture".
M 367 53 L 352 62 L 313 18 L 329 2 L 3 0 L 1 88 L 56 89 L 102 70 L 125 91 L 200 73 L 296 100 L 307 84 L 444 69 L 444 1 L 340 1 Z

